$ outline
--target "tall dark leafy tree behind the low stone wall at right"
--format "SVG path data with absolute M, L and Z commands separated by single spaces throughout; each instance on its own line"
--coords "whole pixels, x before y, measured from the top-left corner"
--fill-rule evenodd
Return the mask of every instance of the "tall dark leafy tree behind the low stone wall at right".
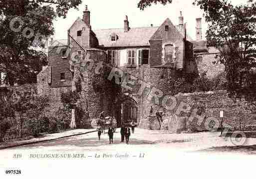
M 256 88 L 256 2 L 249 0 L 234 6 L 217 0 L 220 8 L 213 13 L 204 8 L 209 46 L 220 50 L 218 62 L 225 65 L 227 90 L 234 100 L 246 98 L 255 110 Z M 250 105 L 251 105 L 250 104 Z

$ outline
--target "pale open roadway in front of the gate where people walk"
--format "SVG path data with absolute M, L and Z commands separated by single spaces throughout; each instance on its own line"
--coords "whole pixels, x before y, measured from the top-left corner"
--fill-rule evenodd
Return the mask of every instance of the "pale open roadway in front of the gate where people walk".
M 18 151 L 30 151 L 30 152 L 42 152 L 42 151 L 58 151 L 58 152 L 105 152 L 105 151 L 138 151 L 144 150 L 168 150 L 179 152 L 197 152 L 197 151 L 238 151 L 238 146 L 235 146 L 231 142 L 231 138 L 226 140 L 219 137 L 220 133 L 195 133 L 195 134 L 167 134 L 163 131 L 151 131 L 143 129 L 135 129 L 135 134 L 131 134 L 129 145 L 121 143 L 120 129 L 117 129 L 114 133 L 113 144 L 109 144 L 108 135 L 102 134 L 101 140 L 98 141 L 97 133 L 89 133 L 79 136 L 68 137 L 64 139 L 54 140 L 50 142 L 43 142 L 38 144 L 26 145 L 21 147 L 15 147 L 6 150 L 0 150 L 0 153 L 6 151 L 18 152 Z M 233 140 L 234 141 L 234 140 Z M 245 147 L 256 144 L 256 138 L 247 139 Z M 229 147 L 229 148 L 225 148 Z M 241 149 L 241 147 L 239 147 Z M 241 152 L 239 150 L 238 152 Z M 248 152 L 244 148 L 244 152 Z M 249 150 L 253 152 L 253 150 Z

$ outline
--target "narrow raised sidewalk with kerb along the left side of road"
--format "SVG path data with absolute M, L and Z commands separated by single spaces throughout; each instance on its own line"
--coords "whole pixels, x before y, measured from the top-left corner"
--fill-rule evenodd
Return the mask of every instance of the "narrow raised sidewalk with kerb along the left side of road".
M 24 146 L 24 145 L 28 145 L 28 144 L 47 142 L 47 141 L 62 139 L 62 138 L 66 138 L 66 137 L 78 136 L 78 135 L 83 135 L 83 134 L 92 133 L 92 132 L 96 132 L 96 131 L 97 130 L 95 130 L 95 129 L 74 129 L 74 130 L 55 133 L 55 134 L 46 134 L 40 138 L 32 138 L 32 139 L 23 140 L 23 141 L 3 142 L 3 143 L 0 143 L 0 150 L 12 148 L 12 147 Z

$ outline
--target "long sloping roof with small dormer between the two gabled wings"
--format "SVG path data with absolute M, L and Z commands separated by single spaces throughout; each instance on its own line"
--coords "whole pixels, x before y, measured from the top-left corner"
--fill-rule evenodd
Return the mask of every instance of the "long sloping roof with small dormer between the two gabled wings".
M 129 47 L 129 46 L 149 46 L 149 39 L 156 32 L 158 27 L 137 27 L 130 28 L 124 32 L 124 28 L 93 30 L 99 40 L 99 45 L 103 47 Z M 117 41 L 111 41 L 111 35 L 117 35 Z

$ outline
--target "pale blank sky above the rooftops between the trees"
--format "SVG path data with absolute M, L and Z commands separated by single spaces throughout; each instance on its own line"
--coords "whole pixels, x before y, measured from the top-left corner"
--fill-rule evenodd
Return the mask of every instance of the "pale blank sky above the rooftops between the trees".
M 123 28 L 125 15 L 128 16 L 130 27 L 147 27 L 150 24 L 160 26 L 166 18 L 170 18 L 174 25 L 178 24 L 180 11 L 187 22 L 187 31 L 195 39 L 196 18 L 202 17 L 203 39 L 207 30 L 207 23 L 203 18 L 203 11 L 195 5 L 194 0 L 173 0 L 171 4 L 152 4 L 144 10 L 137 7 L 139 0 L 82 0 L 79 10 L 70 9 L 67 17 L 57 18 L 54 22 L 54 39 L 66 39 L 67 29 L 79 16 L 82 18 L 85 5 L 91 12 L 91 26 L 93 29 Z M 234 4 L 243 0 L 232 0 Z

